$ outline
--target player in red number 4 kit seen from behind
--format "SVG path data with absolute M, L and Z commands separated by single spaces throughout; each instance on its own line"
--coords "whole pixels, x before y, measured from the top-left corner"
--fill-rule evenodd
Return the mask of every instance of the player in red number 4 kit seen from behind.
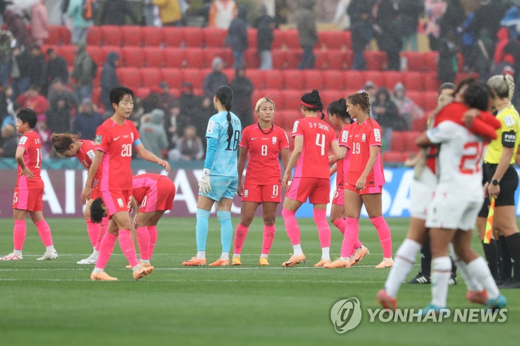
M 282 209 L 285 230 L 291 239 L 294 254 L 282 263 L 282 267 L 305 263 L 306 258 L 300 244 L 300 227 L 295 214 L 307 198 L 314 205 L 314 222 L 318 227 L 322 252 L 321 260 L 315 267 L 322 267 L 324 263 L 330 262 L 330 227 L 326 214 L 327 204 L 330 202 L 330 162 L 336 162 L 343 156 L 334 130 L 323 121 L 325 115 L 318 90 L 302 96 L 300 109 L 305 117 L 294 122 L 294 151 L 282 178 L 283 188 L 288 189 L 291 171 L 295 167 Z M 321 117 L 318 117 L 318 112 Z M 329 148 L 334 154 L 331 161 L 328 156 Z

